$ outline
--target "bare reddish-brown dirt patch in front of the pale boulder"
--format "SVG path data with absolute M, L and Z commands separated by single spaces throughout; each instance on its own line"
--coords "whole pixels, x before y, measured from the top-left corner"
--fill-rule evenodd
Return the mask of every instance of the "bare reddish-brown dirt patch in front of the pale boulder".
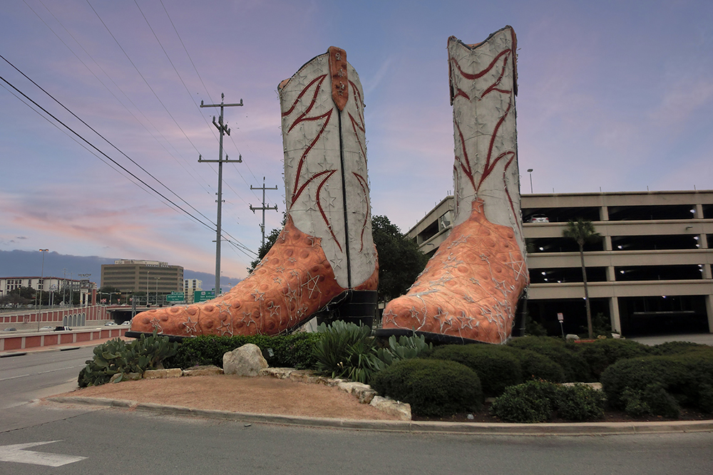
M 106 397 L 193 409 L 336 419 L 396 420 L 336 387 L 235 375 L 123 381 L 60 396 Z

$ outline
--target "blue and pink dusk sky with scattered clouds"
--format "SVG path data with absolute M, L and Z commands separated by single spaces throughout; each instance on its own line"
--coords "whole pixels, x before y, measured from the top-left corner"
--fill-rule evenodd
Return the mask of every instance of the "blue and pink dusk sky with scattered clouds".
M 24 0 L 0 11 L 0 251 L 214 272 L 217 166 L 198 157 L 217 159 L 219 111 L 199 105 L 224 93 L 244 105 L 225 108 L 225 152 L 242 163 L 223 169 L 221 268 L 245 277 L 245 249 L 261 239 L 251 186 L 278 187 L 267 233 L 284 211 L 277 85 L 329 46 L 347 51 L 364 88 L 372 214 L 406 232 L 453 189 L 447 38 L 478 43 L 506 25 L 518 35 L 523 193 L 530 168 L 535 193 L 713 188 L 709 0 Z

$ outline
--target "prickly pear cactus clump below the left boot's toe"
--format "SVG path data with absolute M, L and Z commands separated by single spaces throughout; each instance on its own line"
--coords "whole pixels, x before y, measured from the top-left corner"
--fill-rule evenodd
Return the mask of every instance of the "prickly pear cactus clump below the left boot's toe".
M 125 343 L 120 338 L 109 340 L 94 347 L 94 357 L 86 360 L 79 372 L 79 387 L 103 385 L 113 375 L 162 369 L 163 360 L 175 355 L 178 343 L 169 343 L 167 336 L 141 335 L 138 340 Z M 116 382 L 121 380 L 118 376 Z

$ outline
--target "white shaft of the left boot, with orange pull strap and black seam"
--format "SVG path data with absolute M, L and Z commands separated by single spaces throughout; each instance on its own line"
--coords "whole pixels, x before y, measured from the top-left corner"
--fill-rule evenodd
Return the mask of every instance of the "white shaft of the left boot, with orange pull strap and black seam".
M 332 47 L 278 89 L 287 213 L 321 238 L 337 283 L 354 288 L 376 266 L 359 75 Z

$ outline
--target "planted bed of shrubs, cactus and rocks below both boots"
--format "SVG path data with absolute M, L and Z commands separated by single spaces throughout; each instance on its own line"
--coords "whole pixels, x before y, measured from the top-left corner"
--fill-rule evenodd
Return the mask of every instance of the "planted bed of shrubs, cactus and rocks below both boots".
M 312 334 L 203 336 L 180 345 L 154 335 L 121 345 L 98 347 L 80 385 L 135 379 L 134 372 L 144 379 L 187 375 L 213 365 L 214 371 L 222 366 L 234 375 L 334 385 L 359 402 L 386 404 L 402 419 L 409 404 L 414 419 L 427 419 L 423 422 L 638 427 L 645 420 L 696 419 L 691 424 L 707 427 L 701 421 L 713 412 L 713 348 L 707 345 L 525 337 L 507 345 L 434 348 L 416 336 L 377 342 L 368 328 L 344 323 Z M 152 371 L 157 365 L 173 370 Z M 581 384 L 590 382 L 597 385 Z

